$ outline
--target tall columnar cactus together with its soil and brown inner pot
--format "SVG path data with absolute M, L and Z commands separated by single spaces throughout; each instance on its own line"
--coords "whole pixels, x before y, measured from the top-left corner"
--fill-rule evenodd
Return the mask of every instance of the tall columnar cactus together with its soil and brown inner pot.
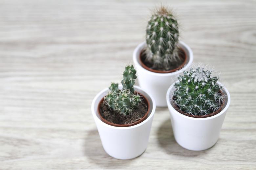
M 178 22 L 170 10 L 161 6 L 148 21 L 147 45 L 140 55 L 141 65 L 157 73 L 170 73 L 182 68 L 187 56 L 178 47 L 178 42 Z

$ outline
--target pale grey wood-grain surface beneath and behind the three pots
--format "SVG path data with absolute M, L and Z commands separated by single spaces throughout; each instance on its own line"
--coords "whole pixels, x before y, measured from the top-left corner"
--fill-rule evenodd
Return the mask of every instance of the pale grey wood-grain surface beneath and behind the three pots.
M 92 99 L 120 82 L 158 1 L 1 0 L 1 170 L 256 168 L 256 1 L 162 2 L 194 62 L 221 71 L 231 94 L 218 143 L 183 149 L 157 108 L 143 155 L 121 161 L 102 148 Z

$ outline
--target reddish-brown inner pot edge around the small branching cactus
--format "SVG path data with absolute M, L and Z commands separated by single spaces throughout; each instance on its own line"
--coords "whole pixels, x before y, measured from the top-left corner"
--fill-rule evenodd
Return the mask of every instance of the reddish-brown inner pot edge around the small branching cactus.
M 145 101 L 145 103 L 146 103 L 146 105 L 147 105 L 147 107 L 148 107 L 148 111 L 146 112 L 146 114 L 145 114 L 141 119 L 139 119 L 137 122 L 134 122 L 134 123 L 131 123 L 131 124 L 126 124 L 126 125 L 119 125 L 119 124 L 115 124 L 115 123 L 111 123 L 111 122 L 106 121 L 106 120 L 101 116 L 100 110 L 99 110 L 101 103 L 103 103 L 103 101 L 104 101 L 104 97 L 103 97 L 103 98 L 99 101 L 98 109 L 97 109 L 97 112 L 98 112 L 98 115 L 99 115 L 101 121 L 104 122 L 104 123 L 106 123 L 106 124 L 108 124 L 108 125 L 116 126 L 116 127 L 130 127 L 130 126 L 134 126 L 134 125 L 137 125 L 137 124 L 143 122 L 143 121 L 148 117 L 150 104 L 149 104 L 149 102 L 148 102 L 148 99 L 147 99 L 144 95 L 142 95 L 142 94 L 139 93 L 139 92 L 135 92 L 135 93 L 139 94 L 139 95 L 142 97 L 142 100 L 144 99 L 144 101 Z

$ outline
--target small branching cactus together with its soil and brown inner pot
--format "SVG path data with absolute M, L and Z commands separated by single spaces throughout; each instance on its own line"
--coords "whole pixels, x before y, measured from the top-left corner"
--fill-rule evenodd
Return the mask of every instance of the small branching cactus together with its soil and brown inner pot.
M 111 83 L 108 94 L 98 105 L 98 114 L 103 122 L 112 126 L 128 127 L 147 118 L 149 102 L 142 94 L 134 91 L 136 78 L 133 65 L 128 65 L 123 72 L 122 89 L 118 89 L 118 83 Z

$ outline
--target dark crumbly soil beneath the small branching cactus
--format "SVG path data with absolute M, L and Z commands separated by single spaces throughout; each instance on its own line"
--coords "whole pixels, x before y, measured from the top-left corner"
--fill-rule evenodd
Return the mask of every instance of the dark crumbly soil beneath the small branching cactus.
M 146 103 L 142 100 L 138 107 L 130 115 L 120 114 L 116 110 L 109 108 L 104 102 L 100 105 L 100 115 L 108 122 L 127 125 L 139 121 L 148 111 Z

